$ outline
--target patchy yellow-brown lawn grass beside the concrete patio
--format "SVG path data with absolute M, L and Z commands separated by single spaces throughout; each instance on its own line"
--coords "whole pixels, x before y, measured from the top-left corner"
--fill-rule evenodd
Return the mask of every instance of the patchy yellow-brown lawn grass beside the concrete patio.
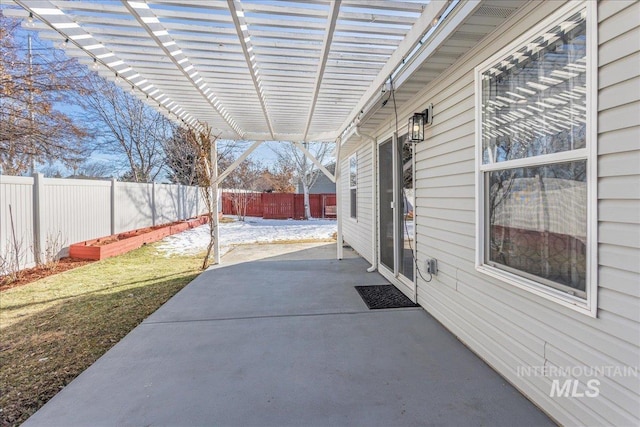
M 200 272 L 144 246 L 0 293 L 0 425 L 18 425 Z

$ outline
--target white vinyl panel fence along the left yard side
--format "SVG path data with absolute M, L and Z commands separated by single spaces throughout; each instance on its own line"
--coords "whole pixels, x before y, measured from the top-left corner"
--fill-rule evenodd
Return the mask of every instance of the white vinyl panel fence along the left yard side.
M 73 243 L 192 218 L 205 207 L 198 188 L 185 185 L 0 175 L 0 274 L 16 252 L 20 268 L 31 267 L 54 246 L 65 254 Z

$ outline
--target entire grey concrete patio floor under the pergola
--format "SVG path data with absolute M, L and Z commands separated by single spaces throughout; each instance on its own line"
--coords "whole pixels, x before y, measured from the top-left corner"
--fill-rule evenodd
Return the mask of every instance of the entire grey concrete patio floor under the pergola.
M 353 286 L 386 280 L 350 251 L 276 249 L 228 254 L 24 425 L 552 425 L 421 308 L 368 310 Z

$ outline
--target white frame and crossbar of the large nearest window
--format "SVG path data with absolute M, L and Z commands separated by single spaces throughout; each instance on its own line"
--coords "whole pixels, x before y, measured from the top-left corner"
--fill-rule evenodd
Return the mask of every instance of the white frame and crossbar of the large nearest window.
M 495 63 L 517 51 L 524 44 L 530 42 L 540 34 L 556 26 L 569 16 L 586 9 L 587 27 L 587 123 L 586 147 L 566 152 L 516 159 L 492 164 L 482 164 L 482 73 Z M 475 68 L 475 97 L 476 97 L 476 270 L 499 279 L 520 289 L 529 291 L 542 298 L 554 301 L 564 307 L 597 317 L 597 288 L 598 288 L 598 221 L 597 221 L 597 4 L 591 1 L 571 1 L 558 9 L 547 19 L 533 27 L 521 37 L 510 43 L 504 49 L 487 59 Z M 562 163 L 585 160 L 587 162 L 587 254 L 586 254 L 586 299 L 572 296 L 566 292 L 546 286 L 538 281 L 488 265 L 485 263 L 485 174 L 492 170 L 504 170 L 526 166 L 542 166 L 545 164 Z

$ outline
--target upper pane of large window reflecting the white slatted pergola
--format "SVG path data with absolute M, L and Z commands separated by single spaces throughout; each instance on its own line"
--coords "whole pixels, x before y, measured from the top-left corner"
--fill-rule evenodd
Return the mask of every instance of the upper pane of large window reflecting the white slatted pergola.
M 483 164 L 586 146 L 586 55 L 577 13 L 482 74 Z

